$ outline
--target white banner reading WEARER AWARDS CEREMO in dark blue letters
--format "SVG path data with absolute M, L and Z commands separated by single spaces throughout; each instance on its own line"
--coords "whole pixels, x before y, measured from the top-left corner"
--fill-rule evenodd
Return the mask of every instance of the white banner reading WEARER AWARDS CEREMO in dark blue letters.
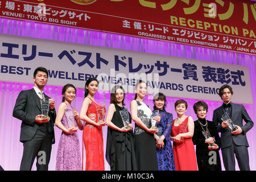
M 248 68 L 241 65 L 0 34 L 0 81 L 33 83 L 39 66 L 47 68 L 49 85 L 83 89 L 94 77 L 98 90 L 122 85 L 134 93 L 144 80 L 152 96 L 221 101 L 218 90 L 229 84 L 234 102 L 253 104 Z

